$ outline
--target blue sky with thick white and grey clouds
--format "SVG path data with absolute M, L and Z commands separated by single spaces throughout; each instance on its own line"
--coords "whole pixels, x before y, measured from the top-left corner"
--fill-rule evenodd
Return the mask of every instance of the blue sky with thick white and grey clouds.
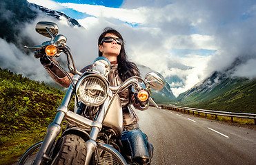
M 63 12 L 83 26 L 70 30 L 64 19 L 59 25 L 79 68 L 97 57 L 97 38 L 111 27 L 124 37 L 128 59 L 162 74 L 175 96 L 223 71 L 236 58 L 244 62 L 233 76 L 256 77 L 255 0 L 28 2 Z

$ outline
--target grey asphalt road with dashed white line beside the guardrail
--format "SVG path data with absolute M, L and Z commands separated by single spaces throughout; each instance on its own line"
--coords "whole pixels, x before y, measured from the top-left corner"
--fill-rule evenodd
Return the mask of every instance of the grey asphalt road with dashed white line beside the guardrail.
M 256 131 L 166 109 L 136 111 L 152 164 L 256 164 Z

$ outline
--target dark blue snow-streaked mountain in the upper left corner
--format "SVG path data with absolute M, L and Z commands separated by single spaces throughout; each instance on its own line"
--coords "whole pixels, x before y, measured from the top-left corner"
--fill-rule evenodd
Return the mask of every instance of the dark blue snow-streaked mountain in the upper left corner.
M 65 17 L 71 26 L 81 25 L 66 14 L 54 10 L 48 10 L 42 6 L 28 3 L 26 0 L 1 0 L 0 1 L 0 38 L 8 43 L 17 45 L 21 52 L 25 52 L 23 45 L 34 45 L 32 39 L 26 36 L 20 36 L 21 30 L 26 23 L 31 23 L 43 12 L 48 17 L 54 17 L 59 20 Z

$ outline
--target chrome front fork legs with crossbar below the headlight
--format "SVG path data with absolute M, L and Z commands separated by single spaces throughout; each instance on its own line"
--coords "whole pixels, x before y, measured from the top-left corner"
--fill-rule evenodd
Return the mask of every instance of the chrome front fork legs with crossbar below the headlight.
M 56 137 L 61 132 L 61 123 L 65 119 L 69 124 L 75 124 L 80 128 L 86 129 L 90 131 L 90 140 L 86 142 L 86 162 L 85 164 L 90 164 L 90 159 L 95 152 L 95 148 L 97 146 L 96 140 L 99 135 L 99 131 L 102 128 L 102 122 L 104 121 L 104 116 L 106 115 L 106 110 L 108 109 L 108 103 L 110 98 L 102 105 L 102 108 L 99 110 L 99 114 L 97 115 L 97 119 L 95 121 L 84 118 L 83 116 L 74 113 L 72 111 L 68 111 L 68 106 L 72 96 L 75 94 L 75 90 L 72 85 L 68 88 L 65 98 L 63 102 L 57 109 L 57 115 L 55 120 L 48 126 L 46 137 L 43 140 L 41 148 L 39 149 L 39 153 L 35 159 L 33 165 L 40 165 L 42 162 L 47 162 L 50 160 L 50 151 L 52 146 L 56 140 Z M 53 158 L 53 157 L 52 157 Z

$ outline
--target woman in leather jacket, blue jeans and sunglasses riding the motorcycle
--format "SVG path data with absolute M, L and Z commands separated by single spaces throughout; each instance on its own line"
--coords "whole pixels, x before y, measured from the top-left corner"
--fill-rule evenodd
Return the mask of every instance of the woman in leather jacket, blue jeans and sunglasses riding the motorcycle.
M 111 63 L 110 74 L 108 74 L 110 86 L 116 87 L 131 76 L 140 76 L 137 65 L 127 60 L 124 40 L 117 30 L 106 28 L 99 36 L 98 45 L 99 56 L 108 58 Z M 45 58 L 40 58 L 40 61 L 56 83 L 62 87 L 70 85 L 68 78 L 55 65 L 51 65 L 50 61 Z M 81 69 L 81 72 L 85 72 L 90 67 L 91 65 Z M 133 164 L 150 164 L 153 147 L 148 143 L 146 135 L 139 129 L 139 119 L 135 111 L 128 107 L 128 104 L 133 104 L 136 109 L 146 110 L 148 100 L 139 101 L 137 94 L 134 94 L 130 88 L 119 94 L 119 97 L 121 98 L 124 124 L 121 142 L 124 144 L 125 150 L 129 151 L 128 154 L 131 155 Z

